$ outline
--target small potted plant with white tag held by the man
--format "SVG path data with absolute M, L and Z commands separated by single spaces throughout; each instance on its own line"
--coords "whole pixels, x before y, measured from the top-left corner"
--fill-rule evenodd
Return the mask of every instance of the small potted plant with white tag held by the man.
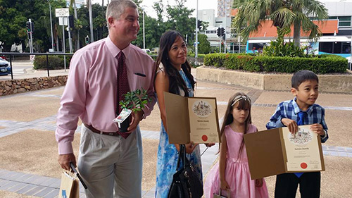
M 142 111 L 144 106 L 151 101 L 151 97 L 146 93 L 146 89 L 136 89 L 133 92 L 124 94 L 124 99 L 120 101 L 121 113 L 114 119 L 118 123 L 118 130 L 120 132 L 127 132 L 130 126 L 131 113 Z

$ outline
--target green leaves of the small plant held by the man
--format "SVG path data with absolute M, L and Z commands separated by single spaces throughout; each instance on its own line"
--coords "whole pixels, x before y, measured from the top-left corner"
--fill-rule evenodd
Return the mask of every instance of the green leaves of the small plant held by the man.
M 146 89 L 136 89 L 133 92 L 124 94 L 125 99 L 120 101 L 122 109 L 130 109 L 133 112 L 141 111 L 144 106 L 151 101 L 151 97 L 146 93 Z

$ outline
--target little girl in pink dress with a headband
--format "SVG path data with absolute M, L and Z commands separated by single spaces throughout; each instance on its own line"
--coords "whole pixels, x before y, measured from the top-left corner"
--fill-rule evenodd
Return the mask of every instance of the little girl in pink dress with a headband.
M 220 130 L 220 161 L 210 170 L 204 185 L 206 198 L 221 194 L 236 198 L 269 197 L 263 178 L 251 180 L 244 134 L 257 132 L 251 124 L 251 99 L 242 92 L 232 96 Z M 228 196 L 230 197 L 230 196 Z

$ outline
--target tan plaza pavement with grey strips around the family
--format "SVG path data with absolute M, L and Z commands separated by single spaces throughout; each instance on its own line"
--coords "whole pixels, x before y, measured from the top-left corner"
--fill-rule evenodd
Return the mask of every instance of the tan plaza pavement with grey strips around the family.
M 198 82 L 195 94 L 216 97 L 221 118 L 228 99 L 239 91 L 251 97 L 252 120 L 259 130 L 265 130 L 265 123 L 280 101 L 292 98 L 289 92 L 268 92 L 203 81 Z M 57 197 L 61 168 L 56 161 L 54 130 L 62 92 L 63 87 L 57 87 L 0 97 L 0 197 Z M 352 118 L 352 95 L 321 93 L 317 103 L 326 109 L 330 137 L 323 144 L 326 171 L 322 172 L 321 197 L 352 197 L 352 135 L 348 125 Z M 140 124 L 144 146 L 143 197 L 154 197 L 155 194 L 160 123 L 160 112 L 155 106 L 151 116 Z M 73 142 L 75 154 L 79 142 L 80 127 Z M 201 145 L 201 151 L 204 149 Z M 204 178 L 218 157 L 217 151 L 217 146 L 211 147 L 202 156 Z M 275 177 L 265 180 L 270 197 L 273 197 Z M 81 197 L 85 197 L 82 187 L 80 192 Z

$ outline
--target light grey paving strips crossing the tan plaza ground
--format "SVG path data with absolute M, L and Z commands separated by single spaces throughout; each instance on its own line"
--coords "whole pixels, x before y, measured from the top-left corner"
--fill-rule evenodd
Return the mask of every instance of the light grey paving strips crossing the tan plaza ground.
M 54 89 L 62 89 L 54 88 Z M 226 87 L 197 87 L 197 89 L 213 89 L 213 90 L 226 90 L 226 89 L 237 89 L 237 88 L 226 88 Z M 53 90 L 53 89 L 51 89 Z M 238 90 L 238 89 L 237 89 Z M 247 89 L 248 90 L 248 89 Z M 8 97 L 17 97 L 19 95 L 30 95 L 34 97 L 49 97 L 49 98 L 60 98 L 61 95 L 56 94 L 40 94 L 41 92 L 46 92 L 47 90 L 40 90 L 37 92 L 27 92 L 23 94 L 16 94 Z M 253 106 L 262 107 L 273 107 L 277 104 L 256 104 L 256 99 L 262 93 L 262 90 L 250 89 L 248 92 L 249 97 L 252 99 Z M 1 100 L 1 98 L 0 98 Z M 227 105 L 227 101 L 218 101 L 218 105 Z M 352 107 L 340 107 L 340 106 L 324 106 L 325 109 L 330 110 L 343 110 L 352 111 Z M 32 120 L 30 122 L 20 122 L 13 120 L 0 120 L 0 126 L 4 127 L 0 129 L 0 138 L 7 135 L 12 135 L 16 132 L 23 130 L 35 129 L 35 130 L 45 130 L 54 131 L 56 130 L 56 125 L 53 120 L 56 119 L 56 115 L 49 116 L 46 118 L 39 118 L 37 120 Z M 77 128 L 76 132 L 80 132 L 80 127 Z M 142 138 L 158 140 L 159 132 L 142 130 Z M 202 166 L 203 175 L 206 175 L 208 170 L 213 165 L 213 162 L 218 157 L 216 152 L 218 151 L 217 145 L 214 147 L 206 149 L 203 144 L 200 144 L 202 156 Z M 339 156 L 352 158 L 352 148 L 351 147 L 332 147 L 328 145 L 323 145 L 323 154 L 325 156 Z M 205 151 L 206 150 L 206 151 Z M 9 192 L 15 192 L 18 194 L 27 194 L 34 197 L 57 197 L 58 190 L 60 187 L 61 180 L 58 178 L 49 178 L 41 175 L 32 175 L 27 173 L 20 173 L 15 171 L 7 171 L 0 169 L 0 190 L 6 190 Z M 143 191 L 142 197 L 149 198 L 154 197 L 155 187 L 152 187 L 149 191 Z M 82 185 L 80 185 L 80 197 L 85 197 Z

